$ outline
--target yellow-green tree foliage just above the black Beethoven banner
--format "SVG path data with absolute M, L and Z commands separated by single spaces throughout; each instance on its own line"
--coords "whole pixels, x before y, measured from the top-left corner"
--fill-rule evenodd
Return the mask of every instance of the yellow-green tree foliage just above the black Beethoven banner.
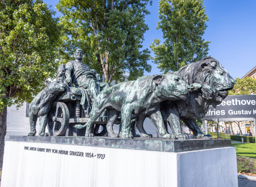
M 235 79 L 236 84 L 232 90 L 229 91 L 229 95 L 249 95 L 256 93 L 256 80 L 251 77 L 244 79 Z

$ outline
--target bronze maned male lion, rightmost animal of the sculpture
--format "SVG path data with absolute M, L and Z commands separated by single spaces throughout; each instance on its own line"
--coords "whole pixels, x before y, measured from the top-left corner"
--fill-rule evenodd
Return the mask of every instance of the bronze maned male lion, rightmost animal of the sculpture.
M 187 84 L 198 83 L 202 88 L 190 92 L 186 100 L 163 101 L 161 103 L 161 113 L 165 121 L 170 124 L 172 133 L 178 139 L 187 139 L 183 132 L 180 119 L 199 138 L 212 139 L 212 136 L 204 135 L 198 127 L 197 118 L 203 118 L 210 105 L 216 107 L 228 96 L 228 91 L 232 90 L 235 80 L 229 75 L 222 65 L 212 57 L 205 57 L 199 62 L 183 66 L 178 71 L 168 72 L 181 76 Z

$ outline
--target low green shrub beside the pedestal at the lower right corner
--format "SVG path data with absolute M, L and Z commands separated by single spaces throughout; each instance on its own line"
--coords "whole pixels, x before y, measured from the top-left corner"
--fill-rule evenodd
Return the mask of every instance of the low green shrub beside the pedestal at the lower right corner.
M 238 172 L 256 174 L 256 159 L 246 156 L 236 157 Z

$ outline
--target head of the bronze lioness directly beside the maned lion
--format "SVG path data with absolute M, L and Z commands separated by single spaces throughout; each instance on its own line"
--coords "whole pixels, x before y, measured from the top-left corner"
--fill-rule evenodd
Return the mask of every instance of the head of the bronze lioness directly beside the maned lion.
M 166 100 L 185 100 L 190 86 L 180 76 L 173 74 L 153 75 L 152 80 L 159 98 Z

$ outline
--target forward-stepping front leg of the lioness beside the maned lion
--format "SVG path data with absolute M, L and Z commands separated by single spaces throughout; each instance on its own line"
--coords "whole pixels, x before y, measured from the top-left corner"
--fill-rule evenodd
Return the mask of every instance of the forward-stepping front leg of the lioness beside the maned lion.
M 164 120 L 162 119 L 162 114 L 160 112 L 160 108 L 156 109 L 154 112 L 152 112 L 149 116 L 149 119 L 151 122 L 154 123 L 156 128 L 158 128 L 159 134 L 162 136 L 164 139 L 175 139 L 174 134 L 169 134 L 166 132 L 165 125 L 164 125 Z

